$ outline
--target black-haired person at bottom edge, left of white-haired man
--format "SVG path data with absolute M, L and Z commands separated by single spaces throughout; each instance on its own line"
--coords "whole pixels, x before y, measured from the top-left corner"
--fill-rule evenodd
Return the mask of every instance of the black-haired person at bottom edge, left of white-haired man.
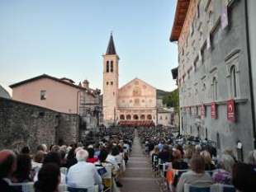
M 34 184 L 35 192 L 58 192 L 59 182 L 59 166 L 55 163 L 47 163 L 38 173 L 38 180 Z

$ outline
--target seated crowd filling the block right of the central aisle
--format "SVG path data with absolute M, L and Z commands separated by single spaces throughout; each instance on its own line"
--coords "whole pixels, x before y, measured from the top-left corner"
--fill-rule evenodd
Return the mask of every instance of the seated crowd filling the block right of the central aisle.
M 198 138 L 191 142 L 181 135 L 174 137 L 167 129 L 140 129 L 140 138 L 154 169 L 168 165 L 165 177 L 171 178 L 171 191 L 183 192 L 185 184 L 234 185 L 240 192 L 256 191 L 256 150 L 249 152 L 246 162 L 239 162 L 230 148 L 217 155 L 211 143 L 199 142 Z

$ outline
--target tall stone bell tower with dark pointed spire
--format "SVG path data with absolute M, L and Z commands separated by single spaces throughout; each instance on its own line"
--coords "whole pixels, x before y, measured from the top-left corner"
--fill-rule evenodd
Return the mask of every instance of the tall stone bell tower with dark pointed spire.
M 103 55 L 103 119 L 105 124 L 116 123 L 116 108 L 119 87 L 119 57 L 116 54 L 111 33 L 107 52 Z

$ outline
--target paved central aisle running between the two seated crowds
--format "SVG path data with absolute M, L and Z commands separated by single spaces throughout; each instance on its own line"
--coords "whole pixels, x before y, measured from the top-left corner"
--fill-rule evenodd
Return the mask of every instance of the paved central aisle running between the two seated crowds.
M 149 158 L 145 157 L 140 146 L 140 140 L 135 131 L 132 153 L 126 166 L 126 172 L 121 178 L 121 192 L 159 192 L 157 179 L 154 178 Z

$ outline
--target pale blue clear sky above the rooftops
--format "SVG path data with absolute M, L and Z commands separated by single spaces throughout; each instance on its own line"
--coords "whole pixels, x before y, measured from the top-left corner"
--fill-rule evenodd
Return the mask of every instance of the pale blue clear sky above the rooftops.
M 139 77 L 172 91 L 178 54 L 168 39 L 175 6 L 174 0 L 1 0 L 0 84 L 46 73 L 102 89 L 102 54 L 112 30 L 120 85 Z

